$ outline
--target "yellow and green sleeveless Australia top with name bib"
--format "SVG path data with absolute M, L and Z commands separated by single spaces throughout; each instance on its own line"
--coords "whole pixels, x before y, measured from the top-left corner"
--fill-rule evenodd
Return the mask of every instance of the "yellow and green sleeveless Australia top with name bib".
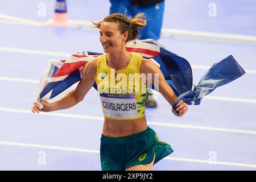
M 115 75 L 115 70 L 108 67 L 106 55 L 97 58 L 96 77 L 104 117 L 118 120 L 143 117 L 147 87 L 141 80 L 146 77 L 140 77 L 142 56 L 131 53 L 127 67 Z

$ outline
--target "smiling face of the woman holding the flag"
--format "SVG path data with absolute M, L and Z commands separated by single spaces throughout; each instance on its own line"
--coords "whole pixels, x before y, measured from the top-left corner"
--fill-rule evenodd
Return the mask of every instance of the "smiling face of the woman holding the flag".
M 116 22 L 102 22 L 100 27 L 100 42 L 104 52 L 119 52 L 125 46 L 127 31 L 121 34 Z

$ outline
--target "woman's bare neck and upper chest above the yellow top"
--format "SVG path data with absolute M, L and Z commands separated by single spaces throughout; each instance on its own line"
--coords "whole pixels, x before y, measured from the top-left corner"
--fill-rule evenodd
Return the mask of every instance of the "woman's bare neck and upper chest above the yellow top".
M 107 53 L 107 64 L 110 68 L 122 70 L 127 67 L 131 59 L 131 53 L 128 51 Z

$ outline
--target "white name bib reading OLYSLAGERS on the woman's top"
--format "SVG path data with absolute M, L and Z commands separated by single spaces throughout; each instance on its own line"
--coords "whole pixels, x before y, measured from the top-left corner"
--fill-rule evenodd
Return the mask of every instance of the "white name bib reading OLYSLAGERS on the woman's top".
M 100 93 L 104 115 L 116 119 L 129 119 L 138 116 L 135 94 Z

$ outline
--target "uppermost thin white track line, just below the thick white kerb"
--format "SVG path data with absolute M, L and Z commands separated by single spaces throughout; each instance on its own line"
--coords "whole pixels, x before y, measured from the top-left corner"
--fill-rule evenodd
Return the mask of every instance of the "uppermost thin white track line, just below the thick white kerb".
M 31 53 L 36 55 L 46 55 L 46 56 L 60 56 L 60 57 L 69 57 L 72 53 L 64 53 L 64 52 L 50 52 L 50 51 L 38 51 L 33 49 L 20 49 L 20 48 L 11 48 L 11 47 L 0 47 L 0 51 L 3 52 L 16 52 L 16 53 Z M 205 65 L 191 65 L 192 69 L 204 69 L 208 70 L 210 67 Z M 246 73 L 256 74 L 256 70 L 253 69 L 245 69 Z

